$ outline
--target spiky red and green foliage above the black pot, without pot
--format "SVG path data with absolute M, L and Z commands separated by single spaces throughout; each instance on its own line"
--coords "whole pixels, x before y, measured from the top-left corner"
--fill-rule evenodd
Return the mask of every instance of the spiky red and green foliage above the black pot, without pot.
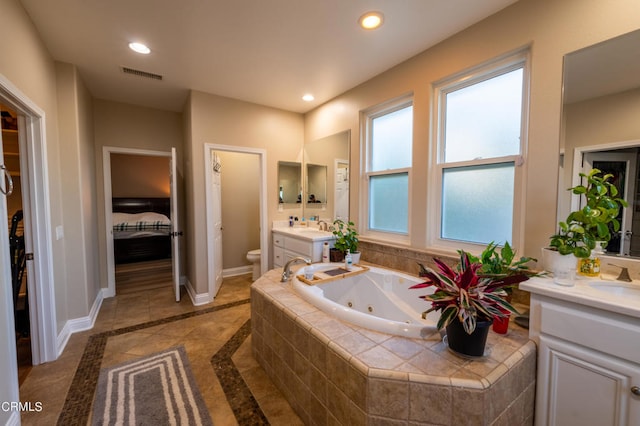
M 454 268 L 434 258 L 438 270 L 424 268 L 421 275 L 427 281 L 411 287 L 435 287 L 432 294 L 420 296 L 431 302 L 431 308 L 423 312 L 422 317 L 429 312 L 440 311 L 438 329 L 457 318 L 464 330 L 471 334 L 476 329 L 478 319 L 490 320 L 507 316 L 508 313 L 517 315 L 518 311 L 505 300 L 505 289 L 529 277 L 525 274 L 483 275 L 480 273 L 480 262 L 471 262 L 469 254 L 462 250 L 459 253 L 460 263 Z

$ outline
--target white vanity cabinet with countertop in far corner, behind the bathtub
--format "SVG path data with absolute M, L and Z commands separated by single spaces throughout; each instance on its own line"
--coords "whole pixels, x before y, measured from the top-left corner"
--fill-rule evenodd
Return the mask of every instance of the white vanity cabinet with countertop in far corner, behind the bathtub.
M 297 256 L 322 261 L 322 246 L 325 241 L 333 247 L 334 236 L 329 232 L 313 232 L 299 228 L 273 229 L 273 267 L 282 267 Z

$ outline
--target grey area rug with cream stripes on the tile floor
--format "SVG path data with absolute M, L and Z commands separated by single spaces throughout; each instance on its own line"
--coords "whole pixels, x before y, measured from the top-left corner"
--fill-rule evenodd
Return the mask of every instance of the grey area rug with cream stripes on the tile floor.
M 102 369 L 93 425 L 213 425 L 183 346 Z

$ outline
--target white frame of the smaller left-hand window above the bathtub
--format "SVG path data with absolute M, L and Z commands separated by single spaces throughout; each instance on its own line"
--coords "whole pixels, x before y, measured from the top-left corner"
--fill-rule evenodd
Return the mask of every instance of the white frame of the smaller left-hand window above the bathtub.
M 409 106 L 413 107 L 413 94 L 404 95 L 402 97 L 393 99 L 391 101 L 385 102 L 383 104 L 377 105 L 375 107 L 369 108 L 362 112 L 362 120 L 361 120 L 361 135 L 362 137 L 360 142 L 360 164 L 362 173 L 360 174 L 360 228 L 363 236 L 381 240 L 381 241 L 389 241 L 393 243 L 400 244 L 409 244 L 411 241 L 411 194 L 412 194 L 412 167 L 413 167 L 413 128 L 411 129 L 411 167 L 403 167 L 399 169 L 387 169 L 387 170 L 378 170 L 375 172 L 371 171 L 371 136 L 373 131 L 373 120 L 391 114 L 395 111 L 407 108 Z M 415 127 L 415 119 L 413 120 L 412 127 Z M 378 229 L 369 228 L 369 183 L 371 176 L 387 176 L 387 175 L 395 175 L 395 174 L 407 174 L 408 180 L 408 200 L 407 200 L 407 232 L 392 232 L 392 231 L 382 231 Z

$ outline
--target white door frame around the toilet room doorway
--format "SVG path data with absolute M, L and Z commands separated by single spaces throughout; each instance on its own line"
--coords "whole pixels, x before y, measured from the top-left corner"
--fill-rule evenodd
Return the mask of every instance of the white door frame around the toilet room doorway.
M 211 195 L 213 178 L 211 176 L 213 164 L 211 164 L 211 153 L 213 151 L 236 152 L 241 154 L 258 155 L 260 162 L 260 273 L 267 271 L 269 259 L 269 235 L 267 226 L 267 151 L 260 148 L 248 148 L 234 145 L 218 145 L 212 143 L 204 144 L 204 170 L 205 170 L 205 202 L 206 202 L 206 222 L 207 222 L 207 282 L 209 302 L 214 299 L 215 289 L 215 265 L 213 256 L 212 234 L 213 229 L 213 197 Z

